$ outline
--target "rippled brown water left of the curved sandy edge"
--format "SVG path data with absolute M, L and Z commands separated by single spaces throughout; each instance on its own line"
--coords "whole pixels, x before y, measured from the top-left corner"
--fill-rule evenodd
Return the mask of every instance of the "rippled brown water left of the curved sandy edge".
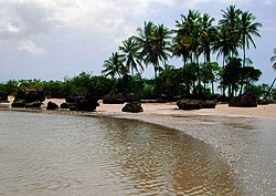
M 0 112 L 0 195 L 238 195 L 217 152 L 136 121 Z

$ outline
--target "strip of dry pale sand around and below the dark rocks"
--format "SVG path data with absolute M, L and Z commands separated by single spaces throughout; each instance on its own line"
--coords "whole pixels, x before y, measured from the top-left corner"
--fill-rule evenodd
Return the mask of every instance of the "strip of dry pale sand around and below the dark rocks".
M 9 102 L 12 103 L 13 97 L 9 96 Z M 54 102 L 59 105 L 65 102 L 64 99 L 46 99 L 43 102 L 42 107 L 46 107 L 47 102 Z M 0 107 L 9 107 L 10 103 L 0 103 Z M 215 109 L 202 109 L 195 111 L 182 111 L 178 110 L 178 106 L 174 102 L 172 103 L 144 103 L 144 113 L 138 115 L 131 113 L 123 113 L 121 109 L 124 104 L 103 104 L 103 101 L 99 101 L 99 106 L 96 109 L 94 115 L 107 115 L 119 117 L 131 116 L 130 118 L 140 118 L 138 116 L 155 114 L 155 115 L 164 115 L 164 116 L 191 116 L 191 115 L 213 115 L 213 116 L 246 116 L 246 117 L 265 117 L 276 120 L 276 104 L 269 105 L 258 105 L 257 107 L 229 107 L 227 104 L 217 104 Z M 137 117 L 135 117 L 137 116 Z M 127 117 L 129 118 L 129 117 Z

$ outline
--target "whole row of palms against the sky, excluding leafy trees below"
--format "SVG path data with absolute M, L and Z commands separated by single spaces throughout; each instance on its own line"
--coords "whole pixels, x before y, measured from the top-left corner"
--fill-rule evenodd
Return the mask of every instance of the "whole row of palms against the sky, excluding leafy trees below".
M 259 22 L 250 11 L 242 11 L 235 6 L 222 10 L 222 19 L 215 25 L 215 19 L 210 14 L 201 14 L 190 10 L 187 16 L 176 21 L 176 29 L 169 30 L 163 24 L 145 22 L 132 35 L 123 42 L 117 52 L 104 62 L 102 73 L 112 78 L 128 74 L 140 74 L 149 64 L 158 76 L 160 68 L 168 63 L 169 58 L 182 58 L 183 66 L 194 64 L 200 79 L 200 60 L 203 63 L 212 61 L 212 54 L 222 56 L 222 69 L 229 58 L 235 58 L 243 52 L 243 66 L 246 65 L 246 50 L 256 48 L 253 37 L 261 37 Z

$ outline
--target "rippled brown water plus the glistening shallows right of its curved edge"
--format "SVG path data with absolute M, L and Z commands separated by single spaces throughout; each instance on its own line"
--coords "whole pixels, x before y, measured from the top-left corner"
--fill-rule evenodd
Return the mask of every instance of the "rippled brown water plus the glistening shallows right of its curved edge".
M 0 111 L 0 195 L 275 192 L 275 121 L 176 117 L 182 131 L 103 116 Z

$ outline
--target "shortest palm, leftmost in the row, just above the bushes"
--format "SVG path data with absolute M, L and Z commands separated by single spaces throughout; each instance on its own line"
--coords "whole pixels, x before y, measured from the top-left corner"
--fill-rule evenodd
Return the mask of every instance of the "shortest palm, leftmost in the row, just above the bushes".
M 118 76 L 124 76 L 128 74 L 128 69 L 124 65 L 126 59 L 123 54 L 115 52 L 112 56 L 104 62 L 104 70 L 102 74 L 105 76 L 110 75 L 113 79 Z

